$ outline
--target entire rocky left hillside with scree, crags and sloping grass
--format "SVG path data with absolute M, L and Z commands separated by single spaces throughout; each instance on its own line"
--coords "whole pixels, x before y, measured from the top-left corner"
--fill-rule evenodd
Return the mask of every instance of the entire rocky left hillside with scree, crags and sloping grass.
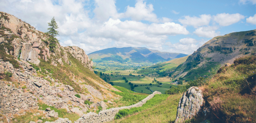
M 118 90 L 94 73 L 84 50 L 59 43 L 50 49 L 47 39 L 44 32 L 0 12 L 0 122 L 23 122 L 21 117 L 34 117 L 31 112 L 53 121 L 58 112 L 64 118 L 62 109 L 79 117 L 87 110 L 95 112 L 96 102 L 118 99 L 111 92 Z

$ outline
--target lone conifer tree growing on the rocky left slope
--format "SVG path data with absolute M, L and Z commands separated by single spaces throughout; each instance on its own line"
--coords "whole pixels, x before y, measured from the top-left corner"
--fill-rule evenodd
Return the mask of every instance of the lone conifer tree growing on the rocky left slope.
M 55 38 L 55 36 L 59 35 L 59 31 L 56 30 L 59 27 L 54 17 L 51 19 L 51 22 L 48 23 L 48 26 L 50 27 L 47 29 L 48 31 L 46 32 L 49 35 L 49 38 L 47 40 L 49 41 L 50 51 L 54 52 L 53 49 L 56 47 L 56 43 L 58 42 L 58 39 Z

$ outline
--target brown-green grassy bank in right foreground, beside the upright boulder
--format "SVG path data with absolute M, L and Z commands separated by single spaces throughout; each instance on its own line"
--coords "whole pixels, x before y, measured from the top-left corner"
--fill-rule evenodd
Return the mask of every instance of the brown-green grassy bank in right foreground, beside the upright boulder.
M 208 85 L 202 87 L 205 108 L 213 122 L 256 122 L 256 57 L 242 57 L 221 67 Z

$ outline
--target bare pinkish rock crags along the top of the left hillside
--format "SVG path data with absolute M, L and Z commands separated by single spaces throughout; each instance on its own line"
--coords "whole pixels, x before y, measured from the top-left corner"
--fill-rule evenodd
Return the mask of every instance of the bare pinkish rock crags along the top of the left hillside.
M 6 38 L 12 38 L 11 43 L 14 46 L 14 50 L 12 51 L 14 54 L 12 55 L 15 57 L 39 65 L 40 58 L 47 61 L 48 59 L 52 59 L 51 55 L 56 56 L 64 53 L 61 57 L 64 59 L 65 63 L 69 64 L 69 59 L 65 54 L 66 52 L 70 52 L 73 57 L 85 64 L 85 67 L 93 71 L 93 61 L 90 61 L 83 49 L 77 46 L 63 47 L 57 44 L 55 51 L 50 52 L 46 42 L 48 37 L 43 32 L 37 31 L 34 27 L 23 22 L 21 19 L 4 12 L 1 12 L 0 18 L 1 28 L 3 27 L 2 41 L 0 43 L 7 42 Z M 53 59 L 55 63 L 58 60 L 59 59 Z M 60 62 L 62 61 L 60 60 Z

